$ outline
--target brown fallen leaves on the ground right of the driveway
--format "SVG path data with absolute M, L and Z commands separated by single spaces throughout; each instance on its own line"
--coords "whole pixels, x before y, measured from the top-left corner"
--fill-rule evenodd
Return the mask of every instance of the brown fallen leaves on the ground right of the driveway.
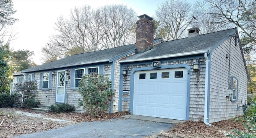
M 226 138 L 227 132 L 234 129 L 246 130 L 242 121 L 234 119 L 212 123 L 214 127 L 204 122 L 186 121 L 176 124 L 168 131 L 158 134 L 158 138 Z

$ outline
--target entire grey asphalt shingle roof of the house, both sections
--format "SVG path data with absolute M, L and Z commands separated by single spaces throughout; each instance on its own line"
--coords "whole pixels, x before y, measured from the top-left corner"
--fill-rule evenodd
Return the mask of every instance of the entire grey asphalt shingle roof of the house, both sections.
M 230 33 L 234 33 L 234 31 L 235 31 L 235 28 L 198 35 L 195 37 L 189 37 L 189 38 L 187 37 L 183 39 L 167 41 L 154 46 L 154 49 L 151 49 L 149 51 L 126 57 L 126 60 L 135 60 L 135 59 L 137 60 L 137 59 L 150 58 L 150 57 L 156 57 L 156 56 L 165 56 L 165 55 L 181 54 L 181 53 L 193 52 L 193 51 L 210 50 L 214 46 L 218 45 L 220 41 L 228 37 Z M 22 72 L 34 72 L 34 71 L 50 70 L 54 68 L 64 68 L 68 66 L 76 66 L 76 65 L 82 65 L 82 64 L 110 62 L 111 59 L 119 57 L 121 55 L 125 56 L 124 54 L 128 54 L 129 52 L 134 51 L 135 49 L 136 49 L 135 44 L 132 44 L 132 45 L 126 45 L 126 46 L 116 47 L 112 49 L 105 49 L 101 51 L 75 54 L 72 56 L 68 56 L 66 58 L 62 58 L 60 60 L 55 60 L 55 61 L 48 62 L 36 67 L 22 70 Z

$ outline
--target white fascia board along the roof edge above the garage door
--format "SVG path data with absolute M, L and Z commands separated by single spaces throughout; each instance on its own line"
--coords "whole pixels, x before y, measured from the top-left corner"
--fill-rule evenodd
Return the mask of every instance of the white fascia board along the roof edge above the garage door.
M 204 54 L 208 52 L 208 50 L 203 50 L 203 51 L 194 51 L 194 52 L 184 52 L 184 53 L 178 53 L 178 54 L 169 54 L 165 56 L 154 56 L 150 58 L 140 58 L 140 59 L 132 59 L 132 60 L 120 60 L 120 63 L 125 63 L 125 62 L 136 62 L 136 61 L 144 61 L 144 60 L 154 60 L 154 59 L 161 59 L 161 58 L 172 58 L 172 57 L 178 57 L 178 56 L 189 56 L 193 54 Z

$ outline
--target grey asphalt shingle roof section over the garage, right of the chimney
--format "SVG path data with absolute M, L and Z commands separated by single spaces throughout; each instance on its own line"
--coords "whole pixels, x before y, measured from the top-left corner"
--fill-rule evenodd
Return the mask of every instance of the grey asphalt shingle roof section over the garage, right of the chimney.
M 235 28 L 202 34 L 195 37 L 166 41 L 156 45 L 154 49 L 129 56 L 126 60 L 138 60 L 156 56 L 210 50 L 214 46 L 218 45 L 220 41 L 228 37 L 230 33 L 234 33 L 234 31 Z

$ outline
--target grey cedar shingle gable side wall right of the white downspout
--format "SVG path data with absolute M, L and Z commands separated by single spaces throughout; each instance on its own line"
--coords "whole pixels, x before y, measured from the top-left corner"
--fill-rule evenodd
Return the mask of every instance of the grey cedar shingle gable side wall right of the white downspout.
M 229 54 L 230 39 L 227 39 L 218 46 L 211 55 L 211 68 L 210 68 L 210 116 L 209 122 L 218 122 L 225 119 L 230 119 L 238 115 L 242 115 L 242 108 L 236 111 L 236 105 L 241 106 L 241 100 L 245 103 L 247 97 L 247 75 L 240 51 L 235 40 L 231 39 L 231 52 L 230 57 L 226 58 Z M 230 59 L 230 76 L 238 78 L 238 101 L 232 103 L 226 97 L 226 91 L 230 84 L 230 76 L 228 76 L 228 66 Z

